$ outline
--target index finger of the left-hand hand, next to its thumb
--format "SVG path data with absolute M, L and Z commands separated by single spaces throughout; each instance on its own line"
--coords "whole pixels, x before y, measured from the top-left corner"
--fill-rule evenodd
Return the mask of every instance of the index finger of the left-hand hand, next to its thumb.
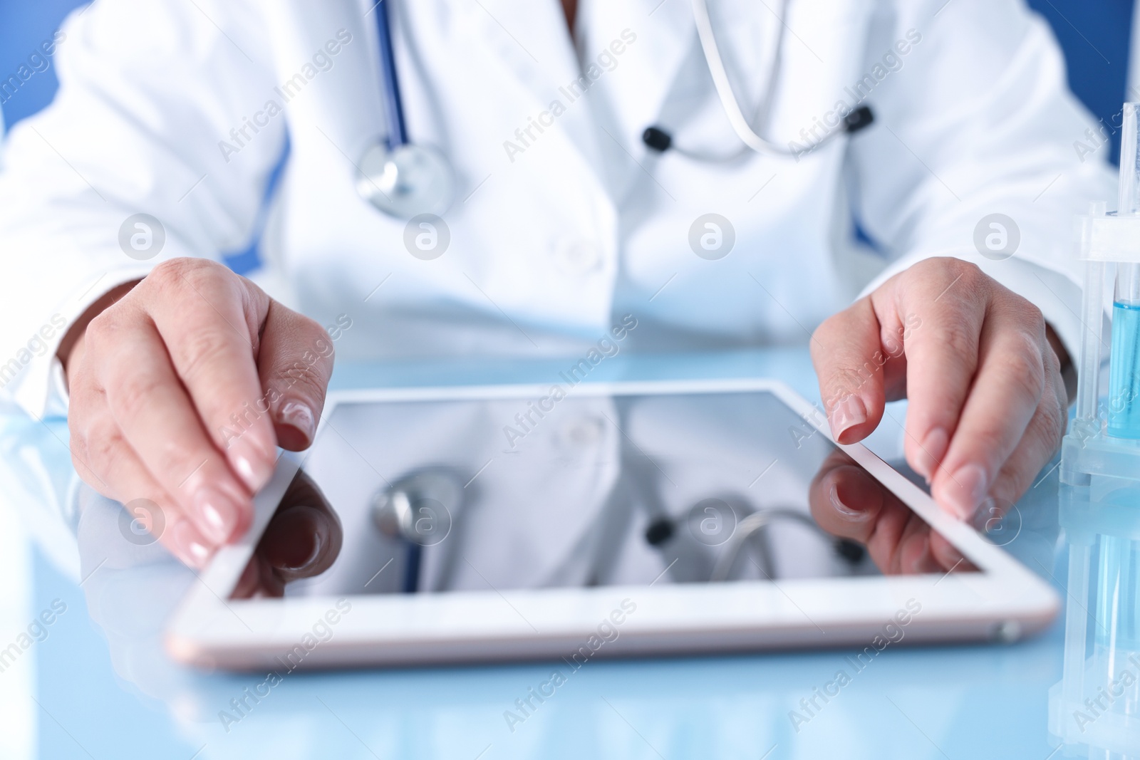
M 213 444 L 256 492 L 274 472 L 277 440 L 254 357 L 269 297 L 221 264 L 181 259 L 145 283 L 155 327 Z

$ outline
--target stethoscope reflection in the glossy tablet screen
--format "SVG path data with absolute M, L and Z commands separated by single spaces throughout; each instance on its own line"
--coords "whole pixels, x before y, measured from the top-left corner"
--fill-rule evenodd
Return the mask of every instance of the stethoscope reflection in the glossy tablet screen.
M 732 508 L 725 501 L 719 499 L 716 501 L 723 505 L 723 508 Z M 405 550 L 401 593 L 415 594 L 420 590 L 424 547 L 437 545 L 448 537 L 451 521 L 461 513 L 463 502 L 462 476 L 451 467 L 424 467 L 412 471 L 381 488 L 373 497 L 373 524 L 382 534 L 401 545 Z M 852 567 L 858 565 L 865 556 L 862 546 L 831 536 L 803 510 L 793 507 L 767 507 L 751 512 L 736 524 L 725 541 L 724 550 L 716 557 L 708 578 L 681 580 L 726 581 L 732 575 L 738 559 L 744 556 L 746 551 L 767 580 L 776 580 L 777 571 L 768 544 L 767 529 L 780 521 L 811 529 L 821 541 L 830 546 L 836 556 L 846 561 Z M 691 536 L 686 537 L 689 531 L 681 528 L 681 520 L 662 514 L 651 515 L 644 540 L 649 546 L 670 556 L 692 555 L 694 551 L 708 553 L 709 545 L 700 544 Z M 686 538 L 692 546 L 678 547 L 678 542 L 685 541 Z M 611 557 L 601 558 L 598 563 L 603 564 L 609 558 Z M 594 578 L 595 573 L 591 573 L 591 577 Z

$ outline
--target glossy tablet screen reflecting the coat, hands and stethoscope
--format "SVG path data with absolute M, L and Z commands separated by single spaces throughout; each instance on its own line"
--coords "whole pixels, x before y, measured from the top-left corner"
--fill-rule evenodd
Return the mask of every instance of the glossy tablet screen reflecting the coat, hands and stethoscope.
M 340 403 L 235 597 L 969 571 L 769 392 Z

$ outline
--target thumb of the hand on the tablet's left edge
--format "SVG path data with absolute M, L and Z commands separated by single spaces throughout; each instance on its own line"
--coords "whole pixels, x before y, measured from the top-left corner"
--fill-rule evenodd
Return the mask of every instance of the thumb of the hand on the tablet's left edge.
M 258 373 L 283 449 L 309 448 L 333 374 L 333 342 L 319 324 L 270 302 L 258 352 Z

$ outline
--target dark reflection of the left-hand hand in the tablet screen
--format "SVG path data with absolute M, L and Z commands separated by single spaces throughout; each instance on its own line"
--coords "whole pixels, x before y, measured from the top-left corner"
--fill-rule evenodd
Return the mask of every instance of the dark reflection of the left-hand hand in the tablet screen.
M 317 484 L 299 471 L 242 572 L 234 598 L 284 596 L 290 581 L 328 570 L 343 538 L 336 513 Z

